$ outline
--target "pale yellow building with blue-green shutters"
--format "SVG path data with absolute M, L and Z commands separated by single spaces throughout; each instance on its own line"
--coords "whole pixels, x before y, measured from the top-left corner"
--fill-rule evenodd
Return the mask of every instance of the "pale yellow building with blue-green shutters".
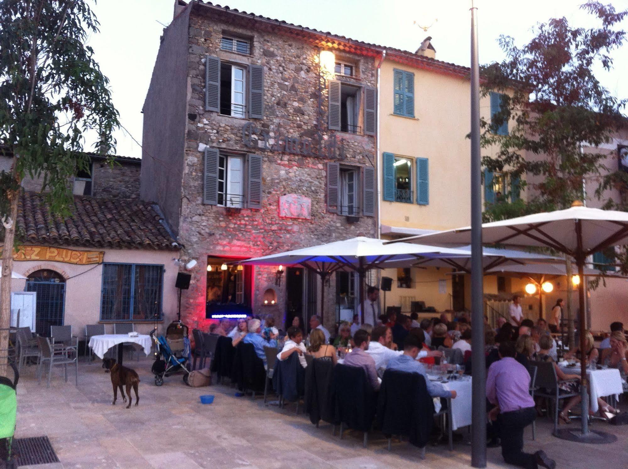
M 470 81 L 469 69 L 434 58 L 426 40 L 416 53 L 387 50 L 380 65 L 379 226 L 382 238 L 400 238 L 470 224 Z M 490 119 L 499 110 L 499 94 L 480 101 Z M 497 133 L 507 131 L 507 126 Z M 485 153 L 485 152 L 483 152 Z M 519 196 L 517 182 L 484 172 L 486 201 Z M 512 186 L 512 189 L 511 189 Z M 436 311 L 462 311 L 470 306 L 468 275 L 449 268 L 387 269 L 393 279 L 387 306 L 411 311 L 425 302 Z M 519 279 L 485 278 L 487 294 L 522 290 Z M 529 310 L 538 317 L 538 300 Z

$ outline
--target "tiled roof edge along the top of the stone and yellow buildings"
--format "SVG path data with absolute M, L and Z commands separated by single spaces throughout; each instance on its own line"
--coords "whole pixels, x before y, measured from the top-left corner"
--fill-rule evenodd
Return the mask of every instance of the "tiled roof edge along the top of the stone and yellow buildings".
M 180 5 L 187 4 L 183 0 L 178 0 L 178 3 Z M 259 19 L 261 21 L 268 21 L 271 23 L 275 23 L 278 26 L 286 26 L 288 28 L 298 29 L 301 33 L 312 33 L 317 36 L 324 36 L 323 43 L 325 44 L 322 45 L 327 45 L 327 47 L 338 47 L 338 45 L 342 45 L 342 43 L 345 43 L 347 45 L 359 45 L 364 48 L 378 50 L 379 53 L 386 50 L 387 54 L 389 54 L 387 57 L 391 58 L 392 60 L 398 58 L 401 59 L 401 62 L 411 61 L 413 65 L 416 65 L 420 68 L 433 69 L 435 71 L 445 72 L 452 75 L 466 76 L 470 74 L 470 69 L 468 67 L 463 67 L 462 65 L 457 65 L 451 62 L 444 62 L 443 60 L 436 60 L 435 58 L 431 57 L 425 57 L 424 55 L 419 55 L 413 52 L 409 52 L 407 50 L 401 50 L 394 47 L 386 47 L 364 41 L 358 41 L 352 38 L 347 38 L 346 36 L 334 35 L 329 31 L 319 31 L 313 28 L 307 28 L 306 26 L 288 23 L 288 21 L 268 18 L 266 16 L 261 16 L 255 13 L 247 13 L 246 11 L 239 11 L 236 8 L 229 8 L 229 6 L 220 6 L 208 1 L 203 2 L 202 0 L 195 0 L 195 3 L 212 8 L 222 9 L 225 12 L 232 12 L 235 14 L 249 16 L 250 18 Z

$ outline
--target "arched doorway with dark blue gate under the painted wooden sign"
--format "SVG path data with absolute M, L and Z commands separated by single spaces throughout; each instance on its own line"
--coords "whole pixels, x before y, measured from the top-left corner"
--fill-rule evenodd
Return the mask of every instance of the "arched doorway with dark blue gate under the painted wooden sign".
M 50 336 L 50 326 L 63 326 L 65 279 L 54 270 L 36 270 L 26 280 L 26 291 L 37 292 L 35 332 Z

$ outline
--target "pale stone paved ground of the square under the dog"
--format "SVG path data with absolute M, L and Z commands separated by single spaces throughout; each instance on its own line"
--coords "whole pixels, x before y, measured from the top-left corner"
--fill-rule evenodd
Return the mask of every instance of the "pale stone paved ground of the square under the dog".
M 63 468 L 283 468 L 333 467 L 384 468 L 427 466 L 462 468 L 470 465 L 470 446 L 456 443 L 454 451 L 428 446 L 425 461 L 408 443 L 386 441 L 374 434 L 362 448 L 359 434 L 340 440 L 331 427 L 315 428 L 295 407 L 265 407 L 261 399 L 235 397 L 225 385 L 211 388 L 187 387 L 179 375 L 166 378 L 163 387 L 154 385 L 151 360 L 127 361 L 142 380 L 139 407 L 126 409 L 119 400 L 111 405 L 109 375 L 100 361 L 79 367 L 79 385 L 62 368 L 53 375 L 50 389 L 38 385 L 35 367 L 27 367 L 18 385 L 18 428 L 16 436 L 48 435 L 61 461 L 50 467 Z M 203 406 L 200 394 L 215 394 L 214 404 Z M 617 443 L 585 445 L 551 436 L 551 424 L 539 419 L 536 441 L 526 432 L 529 450 L 543 449 L 556 458 L 561 468 L 620 468 L 628 461 L 628 427 L 605 422 L 595 428 L 614 432 Z M 468 434 L 463 432 L 465 438 Z M 505 466 L 499 449 L 489 449 L 489 467 Z M 46 466 L 33 466 L 45 469 Z

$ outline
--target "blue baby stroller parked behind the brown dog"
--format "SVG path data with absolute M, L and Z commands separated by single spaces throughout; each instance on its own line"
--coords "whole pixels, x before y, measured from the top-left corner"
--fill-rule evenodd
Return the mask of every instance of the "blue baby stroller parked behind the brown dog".
M 155 385 L 163 385 L 163 378 L 183 370 L 185 375 L 190 374 L 187 368 L 190 357 L 190 340 L 188 339 L 188 326 L 180 321 L 173 321 L 166 329 L 166 336 L 154 337 L 157 328 L 154 328 L 150 336 L 153 339 L 157 351 L 155 361 L 151 368 L 155 375 Z

